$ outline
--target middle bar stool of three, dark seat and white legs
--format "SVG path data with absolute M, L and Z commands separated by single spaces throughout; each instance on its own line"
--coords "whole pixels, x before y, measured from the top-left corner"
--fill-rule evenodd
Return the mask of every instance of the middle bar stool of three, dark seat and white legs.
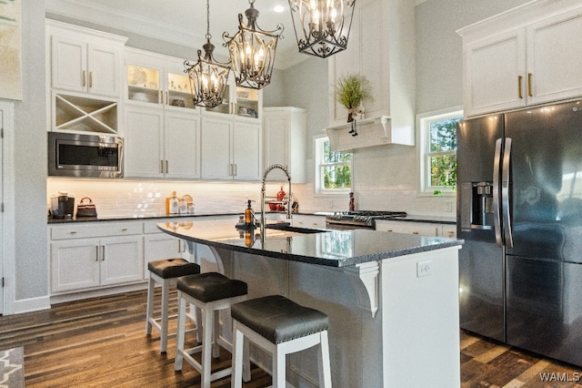
M 181 371 L 182 363 L 186 360 L 200 373 L 202 388 L 209 388 L 210 382 L 226 377 L 232 372 L 232 367 L 228 367 L 211 373 L 211 360 L 212 357 L 220 356 L 220 346 L 229 352 L 232 351 L 232 344 L 220 335 L 219 311 L 230 308 L 233 303 L 246 301 L 246 282 L 228 279 L 217 272 L 205 272 L 179 278 L 177 290 L 178 331 L 174 369 Z M 189 349 L 184 348 L 186 302 L 194 304 L 203 311 L 202 344 Z M 201 362 L 197 362 L 192 356 L 197 352 L 202 352 Z M 247 352 L 244 374 L 246 380 L 250 380 Z

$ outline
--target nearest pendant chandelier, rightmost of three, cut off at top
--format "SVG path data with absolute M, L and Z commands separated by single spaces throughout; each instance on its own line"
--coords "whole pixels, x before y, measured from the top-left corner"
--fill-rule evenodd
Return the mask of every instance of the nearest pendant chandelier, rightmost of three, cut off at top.
M 333 56 L 345 50 L 356 0 L 289 0 L 299 52 Z

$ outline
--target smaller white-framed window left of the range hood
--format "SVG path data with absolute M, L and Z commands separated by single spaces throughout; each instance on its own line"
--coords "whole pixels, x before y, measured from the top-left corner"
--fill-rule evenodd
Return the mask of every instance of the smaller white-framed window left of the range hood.
M 316 138 L 316 192 L 345 193 L 352 190 L 352 154 L 331 150 L 329 139 Z

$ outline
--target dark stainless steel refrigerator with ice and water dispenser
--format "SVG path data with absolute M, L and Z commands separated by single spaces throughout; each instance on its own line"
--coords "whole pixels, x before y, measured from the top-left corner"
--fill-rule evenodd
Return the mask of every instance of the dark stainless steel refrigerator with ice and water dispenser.
M 460 324 L 582 366 L 582 101 L 457 125 Z

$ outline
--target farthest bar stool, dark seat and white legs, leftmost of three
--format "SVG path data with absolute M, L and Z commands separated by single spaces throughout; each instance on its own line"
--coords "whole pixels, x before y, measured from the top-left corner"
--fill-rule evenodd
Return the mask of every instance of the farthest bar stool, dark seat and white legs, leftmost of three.
M 167 339 L 174 338 L 176 333 L 167 333 L 168 321 L 176 315 L 168 315 L 170 287 L 176 286 L 177 278 L 200 273 L 200 266 L 188 260 L 164 259 L 147 263 L 149 283 L 147 286 L 146 334 L 152 333 L 152 327 L 160 333 L 160 352 L 166 352 Z M 162 306 L 160 318 L 154 318 L 154 290 L 156 283 L 162 285 Z M 191 317 L 192 318 L 192 317 Z

